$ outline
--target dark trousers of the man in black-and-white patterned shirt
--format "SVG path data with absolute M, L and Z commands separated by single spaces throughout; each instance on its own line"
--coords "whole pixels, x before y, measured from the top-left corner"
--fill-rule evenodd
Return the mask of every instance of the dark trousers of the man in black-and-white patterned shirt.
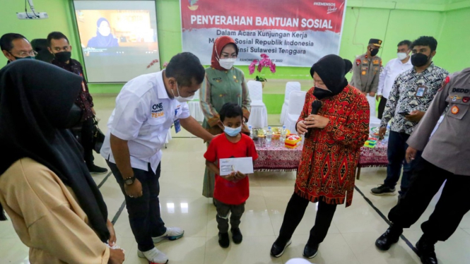
M 387 148 L 387 156 L 389 164 L 387 165 L 387 178 L 384 181 L 384 185 L 389 188 L 394 188 L 396 183 L 400 179 L 401 167 L 403 167 L 403 176 L 401 176 L 401 186 L 399 191 L 400 196 L 404 196 L 410 186 L 411 175 L 413 169 L 416 167 L 418 160 L 421 157 L 421 151 L 416 154 L 415 160 L 411 163 L 406 162 L 405 154 L 408 144 L 406 140 L 410 135 L 406 133 L 398 133 L 390 131 L 389 144 Z

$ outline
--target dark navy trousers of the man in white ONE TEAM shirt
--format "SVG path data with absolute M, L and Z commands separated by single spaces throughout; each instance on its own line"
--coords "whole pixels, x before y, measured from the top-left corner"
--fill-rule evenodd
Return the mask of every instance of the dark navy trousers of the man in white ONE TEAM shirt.
M 121 172 L 117 169 L 116 164 L 107 161 L 112 174 L 116 178 L 117 183 L 121 187 L 122 193 L 126 198 L 127 212 L 129 213 L 129 223 L 131 224 L 132 233 L 137 241 L 139 251 L 149 251 L 155 246 L 152 237 L 165 234 L 165 223 L 160 216 L 160 164 L 156 172 L 152 171 L 152 167 L 148 164 L 148 172 L 141 169 L 132 169 L 134 176 L 142 184 L 143 196 L 139 198 L 131 198 L 124 191 L 124 179 Z

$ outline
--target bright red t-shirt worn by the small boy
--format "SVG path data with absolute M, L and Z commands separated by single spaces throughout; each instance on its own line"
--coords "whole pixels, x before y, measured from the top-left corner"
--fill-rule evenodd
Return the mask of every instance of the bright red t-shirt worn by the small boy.
M 253 160 L 258 158 L 257 150 L 254 148 L 252 138 L 245 134 L 241 134 L 242 138 L 237 143 L 228 141 L 225 133 L 213 138 L 211 144 L 207 148 L 204 157 L 209 162 L 216 163 L 218 160 L 228 159 L 230 157 L 252 157 Z M 249 196 L 249 180 L 248 177 L 240 181 L 227 181 L 216 174 L 216 186 L 214 188 L 213 197 L 228 205 L 240 205 L 245 203 Z

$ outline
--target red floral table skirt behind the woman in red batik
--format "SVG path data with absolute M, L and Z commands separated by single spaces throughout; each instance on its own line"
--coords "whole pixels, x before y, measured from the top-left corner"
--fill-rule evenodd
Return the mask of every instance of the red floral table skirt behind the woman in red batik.
M 302 157 L 302 148 L 290 149 L 284 147 L 279 140 L 257 140 L 254 145 L 258 152 L 258 160 L 254 162 L 255 172 L 290 172 L 296 171 Z M 360 149 L 358 169 L 361 167 L 386 167 L 387 144 L 377 143 L 375 148 Z M 358 172 L 360 174 L 360 172 Z

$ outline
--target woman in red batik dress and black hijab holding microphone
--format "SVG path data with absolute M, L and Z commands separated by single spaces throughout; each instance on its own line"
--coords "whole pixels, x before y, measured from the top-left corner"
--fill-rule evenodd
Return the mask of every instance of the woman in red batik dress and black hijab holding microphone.
M 351 61 L 327 55 L 310 69 L 315 87 L 307 92 L 297 131 L 305 136 L 295 189 L 287 205 L 281 232 L 271 248 L 279 257 L 295 228 L 302 220 L 309 202 L 319 203 L 315 225 L 305 245 L 303 256 L 313 258 L 327 236 L 336 205 L 351 205 L 354 172 L 360 148 L 369 134 L 369 103 L 358 89 L 348 85 L 344 76 L 351 70 Z M 319 100 L 318 114 L 312 102 Z

